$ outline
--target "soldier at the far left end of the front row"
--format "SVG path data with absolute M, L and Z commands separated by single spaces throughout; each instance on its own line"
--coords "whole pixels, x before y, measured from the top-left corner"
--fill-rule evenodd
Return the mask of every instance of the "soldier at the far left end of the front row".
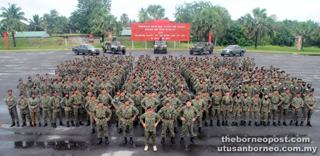
M 19 93 L 19 94 L 21 94 L 21 93 Z M 5 97 L 5 105 L 7 106 L 8 110 L 9 110 L 9 115 L 11 116 L 11 119 L 12 119 L 12 125 L 10 127 L 13 127 L 13 126 L 19 127 L 20 126 L 18 113 L 16 111 L 16 102 L 17 102 L 16 96 L 12 95 L 11 89 L 8 90 L 8 96 Z M 16 121 L 16 123 L 15 123 L 15 121 Z

